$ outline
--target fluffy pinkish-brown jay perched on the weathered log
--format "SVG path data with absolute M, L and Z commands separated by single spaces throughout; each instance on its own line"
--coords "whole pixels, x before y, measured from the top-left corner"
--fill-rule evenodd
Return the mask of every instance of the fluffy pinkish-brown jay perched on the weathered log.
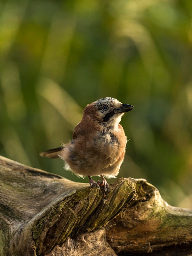
M 96 100 L 83 110 L 82 120 L 76 125 L 72 140 L 59 148 L 40 153 L 40 156 L 61 158 L 65 169 L 79 177 L 88 176 L 91 187 L 109 192 L 105 179 L 115 178 L 124 161 L 127 137 L 119 122 L 132 105 L 111 97 Z M 97 182 L 92 176 L 100 176 Z

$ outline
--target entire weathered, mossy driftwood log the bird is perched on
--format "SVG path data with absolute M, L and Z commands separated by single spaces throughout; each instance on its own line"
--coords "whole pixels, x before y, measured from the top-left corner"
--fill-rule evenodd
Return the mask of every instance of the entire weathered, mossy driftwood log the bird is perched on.
M 142 179 L 121 178 L 110 189 L 103 197 L 0 156 L 0 255 L 192 253 L 192 210 L 168 205 Z

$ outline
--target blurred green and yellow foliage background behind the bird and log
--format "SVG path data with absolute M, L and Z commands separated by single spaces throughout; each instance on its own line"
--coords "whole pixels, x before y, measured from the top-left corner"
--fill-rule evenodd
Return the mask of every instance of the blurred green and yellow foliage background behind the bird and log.
M 38 154 L 109 96 L 134 106 L 118 177 L 192 208 L 192 1 L 0 1 L 1 155 L 88 182 Z

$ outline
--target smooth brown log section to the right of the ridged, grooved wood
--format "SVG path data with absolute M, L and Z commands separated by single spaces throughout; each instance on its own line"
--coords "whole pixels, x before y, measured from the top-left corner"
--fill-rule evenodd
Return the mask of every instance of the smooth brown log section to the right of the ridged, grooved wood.
M 136 192 L 136 203 L 105 226 L 115 252 L 192 255 L 192 210 L 167 204 L 146 180 L 136 180 Z

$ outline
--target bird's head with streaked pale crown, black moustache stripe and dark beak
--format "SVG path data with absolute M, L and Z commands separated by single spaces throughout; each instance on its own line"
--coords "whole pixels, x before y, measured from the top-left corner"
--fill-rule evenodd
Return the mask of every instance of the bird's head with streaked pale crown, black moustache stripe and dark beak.
M 117 127 L 122 115 L 133 109 L 132 105 L 123 104 L 114 98 L 102 98 L 88 104 L 84 115 L 89 115 L 94 121 L 104 126 Z

